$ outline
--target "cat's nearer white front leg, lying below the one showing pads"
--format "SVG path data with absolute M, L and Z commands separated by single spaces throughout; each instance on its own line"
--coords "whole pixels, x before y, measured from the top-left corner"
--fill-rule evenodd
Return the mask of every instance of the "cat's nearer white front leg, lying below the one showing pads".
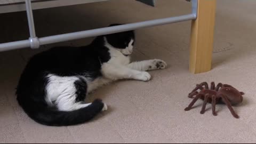
M 103 76 L 112 79 L 137 79 L 139 81 L 149 81 L 151 76 L 146 71 L 134 70 L 129 67 L 114 63 L 104 63 L 101 67 Z

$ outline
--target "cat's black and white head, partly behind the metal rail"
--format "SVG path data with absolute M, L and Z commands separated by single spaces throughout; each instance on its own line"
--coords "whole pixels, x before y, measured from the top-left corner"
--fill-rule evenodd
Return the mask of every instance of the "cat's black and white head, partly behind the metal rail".
M 118 26 L 122 24 L 111 24 L 109 27 Z M 115 47 L 118 51 L 124 55 L 130 55 L 133 51 L 133 45 L 135 42 L 134 31 L 124 31 L 121 33 L 105 35 L 107 43 Z

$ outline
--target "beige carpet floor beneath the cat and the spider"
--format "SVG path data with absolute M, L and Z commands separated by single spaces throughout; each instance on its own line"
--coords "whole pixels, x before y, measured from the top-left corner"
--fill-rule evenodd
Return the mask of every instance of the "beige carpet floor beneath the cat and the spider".
M 39 37 L 164 18 L 190 12 L 183 0 L 158 0 L 156 7 L 137 1 L 114 0 L 35 11 Z M 137 30 L 134 60 L 159 58 L 169 67 L 151 71 L 150 82 L 121 81 L 102 87 L 87 99 L 101 98 L 109 110 L 93 121 L 68 127 L 35 123 L 18 106 L 14 89 L 28 58 L 48 49 L 23 49 L 0 53 L 0 142 L 256 142 L 256 1 L 218 1 L 213 69 L 203 74 L 188 72 L 190 22 Z M 0 15 L 0 42 L 28 37 L 25 12 Z M 54 45 L 85 45 L 92 38 Z M 244 101 L 234 107 L 235 119 L 225 105 L 211 105 L 201 115 L 202 101 L 184 111 L 187 94 L 197 83 L 215 81 L 244 91 Z

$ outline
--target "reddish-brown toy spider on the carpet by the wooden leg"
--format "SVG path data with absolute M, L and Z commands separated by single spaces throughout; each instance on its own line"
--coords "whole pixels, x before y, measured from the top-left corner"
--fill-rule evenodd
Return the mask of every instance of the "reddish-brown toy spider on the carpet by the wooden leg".
M 204 86 L 204 87 L 203 87 Z M 197 92 L 197 90 L 200 90 Z M 204 100 L 203 107 L 201 110 L 201 114 L 204 114 L 206 103 L 212 103 L 212 114 L 214 116 L 217 116 L 217 113 L 215 111 L 215 104 L 216 103 L 225 103 L 230 110 L 231 114 L 235 118 L 239 118 L 239 116 L 235 113 L 234 109 L 231 107 L 231 105 L 236 105 L 237 103 L 241 103 L 243 101 L 243 92 L 239 92 L 236 90 L 233 86 L 228 84 L 222 84 L 219 83 L 216 87 L 214 82 L 211 82 L 211 89 L 209 89 L 209 86 L 206 82 L 203 82 L 201 84 L 197 84 L 196 88 L 189 93 L 189 98 L 194 98 L 189 106 L 185 108 L 186 111 L 190 110 L 195 102 L 200 98 Z M 196 96 L 195 96 L 196 95 Z M 195 96 L 195 97 L 194 97 Z

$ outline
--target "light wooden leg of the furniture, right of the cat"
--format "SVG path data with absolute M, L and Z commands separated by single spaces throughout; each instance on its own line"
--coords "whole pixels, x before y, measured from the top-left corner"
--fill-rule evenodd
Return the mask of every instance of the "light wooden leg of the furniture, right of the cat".
M 216 0 L 198 0 L 197 19 L 191 23 L 189 71 L 211 70 Z

